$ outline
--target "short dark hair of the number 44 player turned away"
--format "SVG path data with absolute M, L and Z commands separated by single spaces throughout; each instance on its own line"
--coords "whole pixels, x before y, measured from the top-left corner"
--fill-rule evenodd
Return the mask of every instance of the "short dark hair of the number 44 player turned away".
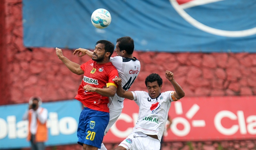
M 118 47 L 120 48 L 120 51 L 125 50 L 129 55 L 133 53 L 134 41 L 129 36 L 118 38 L 116 42 L 119 42 Z

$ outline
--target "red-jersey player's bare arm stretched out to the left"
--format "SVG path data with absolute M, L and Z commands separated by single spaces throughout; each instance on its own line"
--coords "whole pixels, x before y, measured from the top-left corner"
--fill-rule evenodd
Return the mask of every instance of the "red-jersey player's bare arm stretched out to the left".
M 76 64 L 72 61 L 70 61 L 68 58 L 63 56 L 62 50 L 60 48 L 55 48 L 56 49 L 56 54 L 58 58 L 68 67 L 68 69 L 73 72 L 74 74 L 84 74 L 84 71 L 80 68 L 79 64 Z

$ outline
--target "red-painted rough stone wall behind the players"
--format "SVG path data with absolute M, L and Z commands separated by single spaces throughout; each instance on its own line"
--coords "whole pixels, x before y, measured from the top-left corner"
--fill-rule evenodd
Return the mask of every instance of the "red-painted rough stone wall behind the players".
M 6 32 L 1 34 L 0 104 L 24 103 L 31 96 L 43 101 L 74 98 L 82 76 L 70 72 L 54 48 L 24 47 L 22 0 L 1 1 L 0 6 L 5 8 L 1 32 Z M 71 50 L 64 50 L 64 55 L 78 64 L 89 59 L 72 56 Z M 145 77 L 152 72 L 163 77 L 163 91 L 173 90 L 164 77 L 165 70 L 171 70 L 186 96 L 256 95 L 256 54 L 135 52 L 134 56 L 142 67 L 130 90 L 145 90 Z

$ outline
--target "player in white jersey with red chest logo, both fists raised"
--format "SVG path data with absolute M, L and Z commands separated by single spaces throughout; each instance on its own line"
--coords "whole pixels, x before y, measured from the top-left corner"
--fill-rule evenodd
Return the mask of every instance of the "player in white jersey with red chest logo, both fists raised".
M 120 97 L 134 100 L 139 106 L 139 115 L 132 133 L 119 144 L 115 150 L 159 150 L 164 126 L 168 118 L 171 102 L 185 96 L 180 85 L 174 80 L 174 74 L 168 70 L 166 78 L 171 82 L 175 91 L 161 93 L 162 78 L 158 74 L 150 74 L 145 84 L 148 92 L 125 91 L 119 85 L 121 78 L 115 78 L 118 84 L 117 94 Z

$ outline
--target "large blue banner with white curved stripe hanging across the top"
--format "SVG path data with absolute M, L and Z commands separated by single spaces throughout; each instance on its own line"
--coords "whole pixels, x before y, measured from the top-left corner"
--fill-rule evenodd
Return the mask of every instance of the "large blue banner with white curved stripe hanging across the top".
M 256 52 L 255 0 L 23 0 L 24 45 L 94 49 L 130 36 L 135 49 L 161 52 Z M 95 28 L 92 12 L 112 16 Z

